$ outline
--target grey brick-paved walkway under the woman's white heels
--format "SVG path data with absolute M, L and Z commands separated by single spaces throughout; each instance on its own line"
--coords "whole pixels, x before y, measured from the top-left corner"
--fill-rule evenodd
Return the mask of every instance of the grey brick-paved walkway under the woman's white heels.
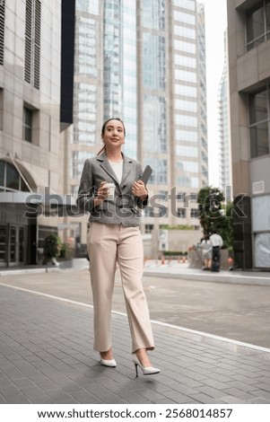
M 113 312 L 114 369 L 98 363 L 91 320 L 89 303 L 1 277 L 0 403 L 270 403 L 270 349 L 153 321 L 161 374 L 135 378 L 126 315 Z

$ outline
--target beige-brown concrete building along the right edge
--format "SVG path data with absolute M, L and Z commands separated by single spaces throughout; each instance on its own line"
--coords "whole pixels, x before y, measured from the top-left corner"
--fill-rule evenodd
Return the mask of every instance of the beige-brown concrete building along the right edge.
M 227 2 L 238 268 L 270 268 L 269 7 L 269 0 Z

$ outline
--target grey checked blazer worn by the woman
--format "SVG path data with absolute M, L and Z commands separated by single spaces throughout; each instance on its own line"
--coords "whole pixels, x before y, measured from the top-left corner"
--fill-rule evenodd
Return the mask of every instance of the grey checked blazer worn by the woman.
M 89 158 L 83 166 L 83 173 L 78 190 L 77 205 L 83 211 L 89 211 L 89 221 L 106 224 L 123 224 L 136 226 L 140 223 L 140 209 L 146 207 L 148 198 L 142 201 L 132 194 L 135 180 L 142 177 L 143 170 L 139 162 L 123 154 L 123 176 L 119 183 L 105 153 Z M 115 199 L 105 199 L 98 207 L 94 207 L 94 198 L 100 188 L 101 181 L 116 185 Z

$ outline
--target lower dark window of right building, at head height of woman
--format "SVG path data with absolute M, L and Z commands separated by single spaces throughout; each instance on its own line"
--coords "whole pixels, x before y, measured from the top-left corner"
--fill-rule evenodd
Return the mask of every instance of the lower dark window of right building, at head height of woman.
M 249 95 L 249 138 L 251 158 L 269 154 L 269 88 Z

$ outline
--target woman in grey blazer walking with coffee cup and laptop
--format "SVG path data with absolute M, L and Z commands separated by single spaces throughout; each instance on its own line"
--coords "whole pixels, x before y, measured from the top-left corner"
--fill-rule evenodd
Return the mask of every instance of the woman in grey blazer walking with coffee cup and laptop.
M 100 153 L 85 161 L 77 204 L 90 211 L 87 247 L 90 256 L 94 305 L 94 349 L 100 364 L 115 367 L 110 335 L 111 300 L 116 266 L 120 269 L 126 312 L 132 337 L 133 362 L 143 374 L 158 374 L 148 350 L 154 348 L 148 305 L 144 295 L 143 242 L 139 211 L 147 205 L 147 190 L 140 180 L 140 163 L 122 153 L 126 129 L 120 119 L 107 120 L 101 130 Z M 109 192 L 108 183 L 115 185 Z

